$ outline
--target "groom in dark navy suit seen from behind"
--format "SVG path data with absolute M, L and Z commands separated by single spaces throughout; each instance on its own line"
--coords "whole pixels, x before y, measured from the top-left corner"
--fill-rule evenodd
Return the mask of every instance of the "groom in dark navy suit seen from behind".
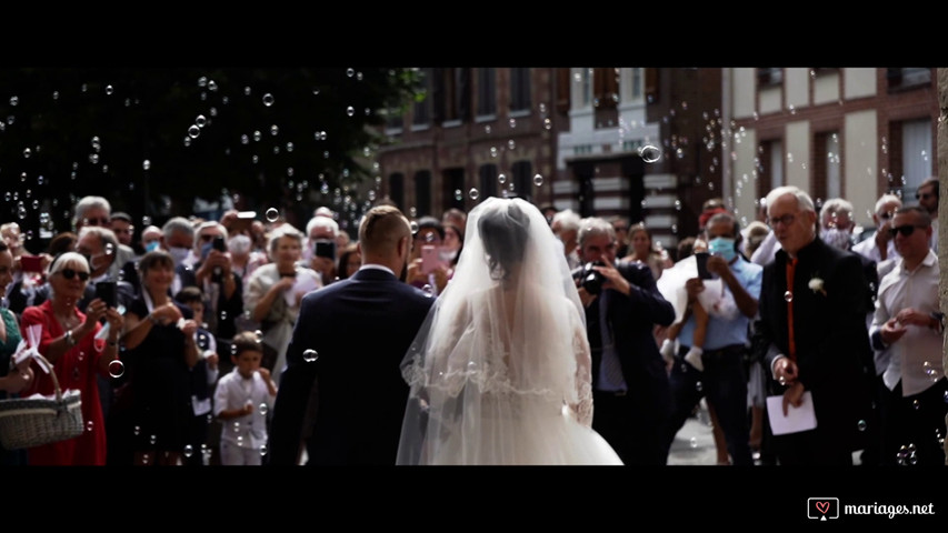
M 397 208 L 359 227 L 362 266 L 307 294 L 273 406 L 269 464 L 395 464 L 408 385 L 399 369 L 433 299 L 399 281 L 411 229 Z

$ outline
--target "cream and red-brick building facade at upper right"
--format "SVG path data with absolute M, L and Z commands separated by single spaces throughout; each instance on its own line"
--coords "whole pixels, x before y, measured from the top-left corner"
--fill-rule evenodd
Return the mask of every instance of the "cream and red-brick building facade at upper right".
M 724 69 L 730 152 L 725 190 L 744 222 L 760 199 L 797 185 L 817 203 L 841 197 L 871 225 L 887 192 L 915 203 L 938 174 L 936 69 Z

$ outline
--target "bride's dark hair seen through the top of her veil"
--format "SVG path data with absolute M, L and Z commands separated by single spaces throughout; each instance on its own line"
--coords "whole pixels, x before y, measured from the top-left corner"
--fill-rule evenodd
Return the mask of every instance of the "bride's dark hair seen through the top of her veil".
M 477 221 L 490 276 L 495 280 L 507 280 L 511 265 L 523 260 L 530 227 L 527 213 L 513 202 L 505 203 L 506 209 L 489 211 Z

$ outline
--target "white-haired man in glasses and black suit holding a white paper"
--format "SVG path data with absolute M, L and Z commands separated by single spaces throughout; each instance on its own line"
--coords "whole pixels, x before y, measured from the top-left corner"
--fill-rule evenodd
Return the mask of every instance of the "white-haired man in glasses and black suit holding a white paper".
M 850 465 L 872 414 L 862 264 L 817 239 L 816 209 L 800 189 L 770 191 L 767 211 L 781 247 L 764 268 L 756 328 L 781 396 L 767 411 L 772 422 L 791 409 L 812 410 L 817 422 L 775 434 L 772 450 L 781 465 Z

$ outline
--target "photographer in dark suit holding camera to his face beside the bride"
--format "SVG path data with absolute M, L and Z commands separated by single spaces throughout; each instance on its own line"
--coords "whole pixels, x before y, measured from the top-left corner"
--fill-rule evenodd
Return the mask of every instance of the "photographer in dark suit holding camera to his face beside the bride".
M 663 465 L 671 390 L 655 324 L 671 325 L 675 308 L 645 263 L 616 260 L 616 231 L 600 218 L 578 223 L 579 257 L 599 283 L 577 280 L 592 359 L 592 429 L 625 464 Z M 598 288 L 598 290 L 597 290 Z

